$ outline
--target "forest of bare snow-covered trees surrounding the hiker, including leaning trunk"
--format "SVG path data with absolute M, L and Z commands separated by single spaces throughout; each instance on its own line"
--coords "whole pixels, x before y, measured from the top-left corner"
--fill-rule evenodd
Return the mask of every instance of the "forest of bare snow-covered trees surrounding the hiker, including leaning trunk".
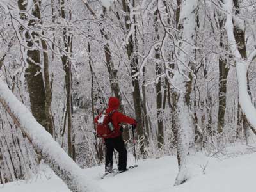
M 0 0 L 0 184 L 44 162 L 90 188 L 111 96 L 138 122 L 136 155 L 177 156 L 182 184 L 189 154 L 253 142 L 255 66 L 255 0 Z

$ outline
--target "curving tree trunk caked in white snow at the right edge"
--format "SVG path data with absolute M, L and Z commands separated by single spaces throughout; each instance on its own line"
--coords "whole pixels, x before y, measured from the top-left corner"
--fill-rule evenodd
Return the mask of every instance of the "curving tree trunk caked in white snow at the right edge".
M 223 0 L 223 3 L 225 4 L 223 8 L 226 9 L 225 13 L 227 15 L 225 30 L 227 31 L 230 50 L 232 54 L 234 54 L 234 60 L 236 61 L 239 104 L 241 106 L 243 115 L 246 116 L 246 122 L 248 122 L 248 124 L 250 124 L 252 128 L 256 129 L 256 109 L 253 106 L 250 94 L 248 93 L 247 77 L 249 63 L 253 60 L 253 55 L 255 54 L 255 52 L 252 52 L 252 54 L 250 54 L 250 56 L 248 57 L 249 61 L 247 61 L 245 22 L 239 20 L 239 1 Z M 236 18 L 233 18 L 233 11 L 235 11 L 234 17 Z

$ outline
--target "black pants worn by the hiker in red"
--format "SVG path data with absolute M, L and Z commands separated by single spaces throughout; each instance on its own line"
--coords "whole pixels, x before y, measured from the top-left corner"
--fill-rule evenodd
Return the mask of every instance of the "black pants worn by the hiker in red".
M 106 172 L 109 172 L 112 170 L 114 149 L 117 150 L 119 154 L 118 170 L 126 170 L 127 150 L 125 148 L 124 140 L 122 136 L 105 139 L 105 144 L 106 144 L 106 163 L 105 163 Z

